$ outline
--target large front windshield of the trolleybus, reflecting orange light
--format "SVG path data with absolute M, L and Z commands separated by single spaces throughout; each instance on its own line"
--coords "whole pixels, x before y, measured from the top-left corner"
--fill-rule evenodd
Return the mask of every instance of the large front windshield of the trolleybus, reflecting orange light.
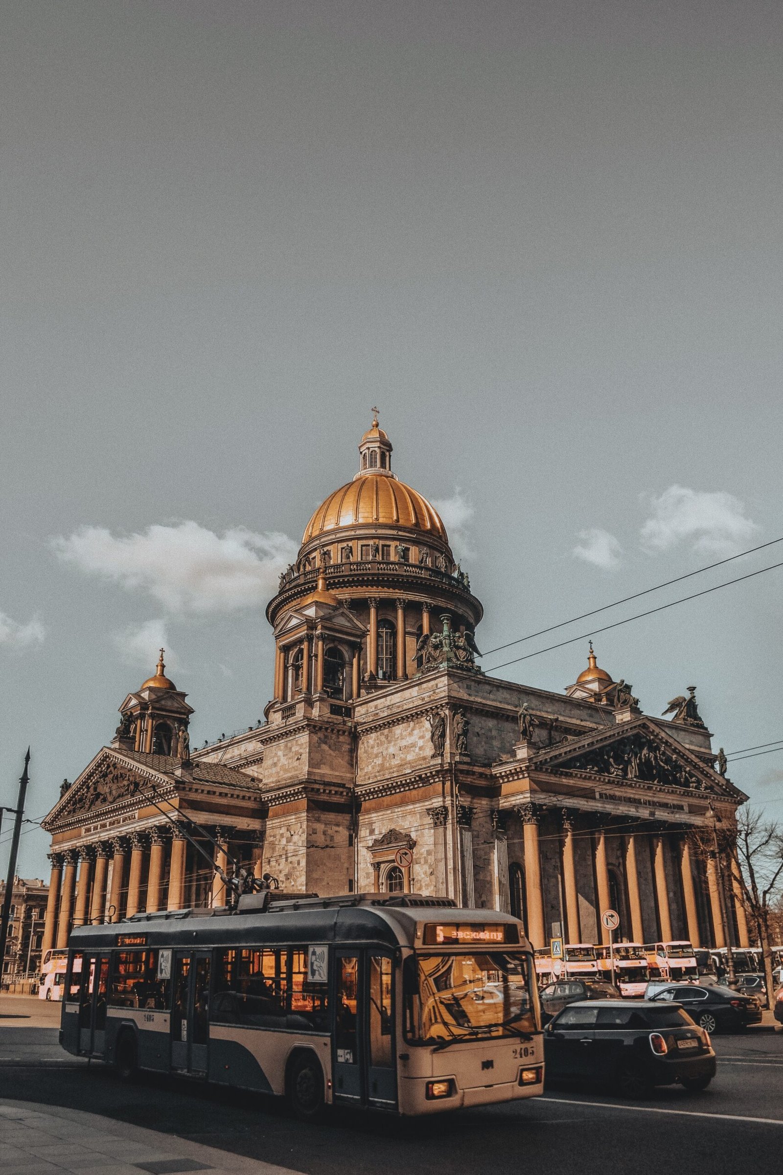
M 535 1032 L 531 992 L 530 954 L 420 954 L 406 966 L 406 1035 L 426 1042 Z

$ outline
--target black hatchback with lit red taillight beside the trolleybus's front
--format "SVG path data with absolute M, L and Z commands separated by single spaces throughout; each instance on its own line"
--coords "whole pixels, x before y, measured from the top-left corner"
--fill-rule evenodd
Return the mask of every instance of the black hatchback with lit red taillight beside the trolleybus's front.
M 547 1025 L 544 1061 L 548 1083 L 610 1083 L 625 1097 L 676 1082 L 707 1089 L 715 1076 L 709 1033 L 668 1001 L 571 1003 Z

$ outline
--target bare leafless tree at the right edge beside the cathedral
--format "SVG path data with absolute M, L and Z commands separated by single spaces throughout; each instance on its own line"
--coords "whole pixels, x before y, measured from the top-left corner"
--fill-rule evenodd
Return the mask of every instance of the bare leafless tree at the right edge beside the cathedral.
M 764 965 L 764 980 L 772 1006 L 771 936 L 775 914 L 783 897 L 783 831 L 776 820 L 748 807 L 737 812 L 736 832 L 729 847 L 740 865 L 737 880 L 745 909 L 758 936 Z M 735 873 L 736 873 L 735 868 Z

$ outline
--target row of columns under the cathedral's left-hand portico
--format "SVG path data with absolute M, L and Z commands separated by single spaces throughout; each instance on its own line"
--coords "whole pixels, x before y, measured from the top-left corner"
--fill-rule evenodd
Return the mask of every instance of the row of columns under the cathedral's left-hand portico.
M 212 830 L 216 846 L 203 841 L 216 866 L 226 871 L 233 830 Z M 262 875 L 262 834 L 255 835 L 253 870 Z M 247 838 L 247 834 L 243 834 Z M 195 870 L 187 870 L 188 838 L 182 825 L 156 825 L 49 853 L 52 873 L 41 951 L 65 947 L 74 926 L 119 922 L 121 918 L 160 909 L 182 909 Z M 196 870 L 206 870 L 200 858 Z M 209 881 L 209 905 L 226 901 L 226 886 L 218 873 Z

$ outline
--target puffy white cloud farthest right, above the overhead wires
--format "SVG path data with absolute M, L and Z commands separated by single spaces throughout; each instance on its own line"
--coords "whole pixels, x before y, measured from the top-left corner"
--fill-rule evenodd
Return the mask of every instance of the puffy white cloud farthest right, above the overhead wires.
M 745 516 L 738 498 L 670 485 L 660 497 L 650 496 L 651 515 L 642 526 L 642 548 L 648 553 L 669 551 L 687 543 L 709 556 L 736 555 L 752 542 L 759 528 Z

